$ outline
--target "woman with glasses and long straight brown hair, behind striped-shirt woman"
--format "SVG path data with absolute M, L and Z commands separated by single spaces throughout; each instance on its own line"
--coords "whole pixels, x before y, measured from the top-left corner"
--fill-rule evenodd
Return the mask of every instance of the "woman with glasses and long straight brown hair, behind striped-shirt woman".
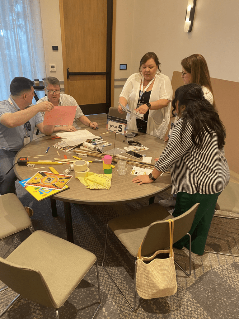
M 205 58 L 201 54 L 195 53 L 195 54 L 192 54 L 191 56 L 184 58 L 181 61 L 181 65 L 182 65 L 181 77 L 184 80 L 184 84 L 189 84 L 189 83 L 199 84 L 203 90 L 205 98 L 215 108 L 213 89 L 212 89 L 209 70 L 208 70 Z M 171 122 L 171 127 L 169 130 L 168 136 L 165 137 L 165 140 L 164 140 L 165 142 L 169 140 L 169 137 L 172 134 L 172 129 L 175 123 L 177 122 L 177 120 L 178 120 L 178 117 L 175 118 L 174 122 Z M 173 196 L 167 199 L 163 199 L 159 201 L 159 204 L 161 204 L 164 207 L 175 206 L 176 197 L 177 195 L 174 194 Z

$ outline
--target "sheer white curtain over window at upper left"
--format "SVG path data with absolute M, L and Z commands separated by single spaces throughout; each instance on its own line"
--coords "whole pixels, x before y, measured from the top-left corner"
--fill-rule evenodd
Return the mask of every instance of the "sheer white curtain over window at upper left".
M 14 77 L 45 77 L 39 0 L 0 0 L 0 55 L 0 100 Z

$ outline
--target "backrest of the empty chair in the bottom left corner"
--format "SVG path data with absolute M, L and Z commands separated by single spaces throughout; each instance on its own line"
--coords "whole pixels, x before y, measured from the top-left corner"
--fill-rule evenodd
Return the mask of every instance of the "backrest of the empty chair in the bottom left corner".
M 22 297 L 56 308 L 51 293 L 37 269 L 11 263 L 0 257 L 0 280 Z

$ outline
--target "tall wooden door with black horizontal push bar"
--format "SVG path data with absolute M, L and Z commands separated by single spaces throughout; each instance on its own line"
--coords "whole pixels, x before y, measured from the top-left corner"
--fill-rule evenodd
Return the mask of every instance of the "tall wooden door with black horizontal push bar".
M 84 114 L 111 101 L 113 0 L 59 0 L 65 93 Z

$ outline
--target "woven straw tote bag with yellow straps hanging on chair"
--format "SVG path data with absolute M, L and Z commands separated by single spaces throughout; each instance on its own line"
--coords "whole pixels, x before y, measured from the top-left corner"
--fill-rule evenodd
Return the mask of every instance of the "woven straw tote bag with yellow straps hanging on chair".
M 157 250 L 151 257 L 141 256 L 141 245 L 137 256 L 136 289 L 143 299 L 171 296 L 177 291 L 177 280 L 173 256 L 173 220 L 168 219 L 170 249 Z

